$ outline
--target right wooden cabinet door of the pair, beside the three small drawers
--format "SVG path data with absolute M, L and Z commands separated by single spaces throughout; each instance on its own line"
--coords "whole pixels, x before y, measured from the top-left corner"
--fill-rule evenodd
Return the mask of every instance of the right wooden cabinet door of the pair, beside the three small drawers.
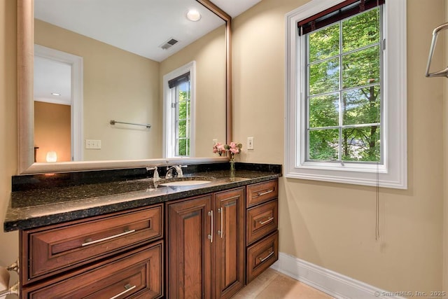
M 244 286 L 244 190 L 215 194 L 214 298 L 229 298 Z

